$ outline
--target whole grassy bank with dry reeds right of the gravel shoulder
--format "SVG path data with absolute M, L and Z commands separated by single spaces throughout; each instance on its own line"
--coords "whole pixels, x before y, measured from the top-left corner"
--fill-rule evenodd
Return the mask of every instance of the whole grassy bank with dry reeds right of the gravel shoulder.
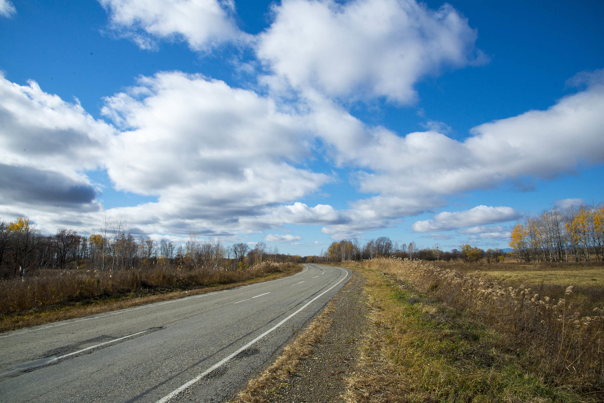
M 347 401 L 604 399 L 604 301 L 592 284 L 601 284 L 603 268 L 575 268 L 574 273 L 564 267 L 518 268 L 512 276 L 496 270 L 464 274 L 399 259 L 361 265 L 371 325 Z M 544 275 L 555 279 L 556 273 L 564 276 L 562 283 L 541 281 Z M 530 282 L 543 290 L 560 288 L 564 298 L 535 295 Z M 593 291 L 581 291 L 576 302 L 582 311 L 594 305 L 595 311 L 575 313 L 570 300 L 576 293 L 568 288 L 574 284 L 574 290 Z

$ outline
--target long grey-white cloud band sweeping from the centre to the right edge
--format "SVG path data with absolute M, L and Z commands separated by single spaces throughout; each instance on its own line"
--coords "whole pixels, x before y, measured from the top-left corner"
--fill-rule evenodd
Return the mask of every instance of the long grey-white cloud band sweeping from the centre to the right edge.
M 315 100 L 309 119 L 327 156 L 338 167 L 357 169 L 359 191 L 377 194 L 351 203 L 355 211 L 347 212 L 365 219 L 365 225 L 355 221 L 356 230 L 373 229 L 446 205 L 449 195 L 515 186 L 527 177 L 551 179 L 604 162 L 604 72 L 582 77 L 589 78 L 582 81 L 585 90 L 547 110 L 479 125 L 464 141 L 434 131 L 400 136 L 368 127 L 327 100 Z

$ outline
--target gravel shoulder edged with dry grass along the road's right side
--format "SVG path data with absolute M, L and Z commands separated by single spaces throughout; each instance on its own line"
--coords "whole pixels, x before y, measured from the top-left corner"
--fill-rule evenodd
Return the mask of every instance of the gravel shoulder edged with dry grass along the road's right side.
M 323 313 L 232 403 L 343 402 L 367 325 L 365 279 L 353 276 Z

